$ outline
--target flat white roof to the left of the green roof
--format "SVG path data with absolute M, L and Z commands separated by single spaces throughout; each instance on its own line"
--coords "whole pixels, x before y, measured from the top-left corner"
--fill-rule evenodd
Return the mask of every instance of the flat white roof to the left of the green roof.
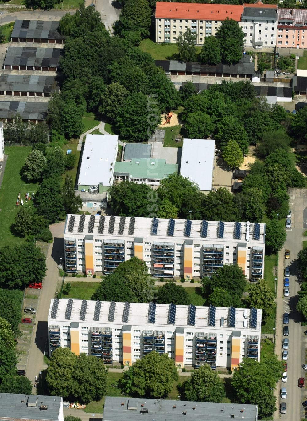
M 78 185 L 110 186 L 118 148 L 118 136 L 87 134 Z

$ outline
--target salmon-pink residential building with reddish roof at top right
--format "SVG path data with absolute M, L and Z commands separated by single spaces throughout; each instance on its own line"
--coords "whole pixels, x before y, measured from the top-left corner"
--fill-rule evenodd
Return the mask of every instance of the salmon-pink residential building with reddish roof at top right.
M 277 9 L 276 46 L 307 48 L 307 9 Z

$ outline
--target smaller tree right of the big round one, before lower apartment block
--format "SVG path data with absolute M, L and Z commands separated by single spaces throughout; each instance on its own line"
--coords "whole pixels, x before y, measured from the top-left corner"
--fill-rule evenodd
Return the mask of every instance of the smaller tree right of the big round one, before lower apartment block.
M 191 374 L 191 378 L 183 384 L 186 400 L 197 402 L 221 402 L 224 395 L 224 385 L 218 373 L 210 365 L 202 365 Z

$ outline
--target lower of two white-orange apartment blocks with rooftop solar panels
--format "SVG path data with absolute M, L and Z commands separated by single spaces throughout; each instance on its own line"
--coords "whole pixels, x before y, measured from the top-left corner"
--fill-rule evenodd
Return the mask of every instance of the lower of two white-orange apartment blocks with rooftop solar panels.
M 49 352 L 68 347 L 129 367 L 155 350 L 178 368 L 234 369 L 244 357 L 260 360 L 261 317 L 254 308 L 56 298 L 48 315 Z

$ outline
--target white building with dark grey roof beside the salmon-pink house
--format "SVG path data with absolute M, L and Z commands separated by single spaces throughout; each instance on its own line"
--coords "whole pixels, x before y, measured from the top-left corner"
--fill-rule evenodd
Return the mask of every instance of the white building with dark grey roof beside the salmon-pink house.
M 276 8 L 244 7 L 241 29 L 246 48 L 274 48 L 277 35 Z

